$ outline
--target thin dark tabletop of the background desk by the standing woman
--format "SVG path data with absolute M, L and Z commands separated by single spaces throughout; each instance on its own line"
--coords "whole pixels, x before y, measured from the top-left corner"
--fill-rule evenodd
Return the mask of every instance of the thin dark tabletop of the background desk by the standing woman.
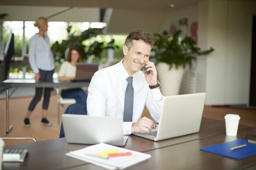
M 90 82 L 59 82 L 53 79 L 53 82 L 35 82 L 35 79 L 7 79 L 3 85 L 7 87 L 85 87 Z

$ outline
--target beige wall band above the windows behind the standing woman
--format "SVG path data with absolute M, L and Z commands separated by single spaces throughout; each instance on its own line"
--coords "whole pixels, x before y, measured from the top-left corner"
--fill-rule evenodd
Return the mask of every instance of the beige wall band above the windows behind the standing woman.
M 35 21 L 38 17 L 49 17 L 67 7 L 49 6 L 1 6 L 0 14 L 9 14 L 9 21 Z M 99 22 L 99 8 L 71 8 L 56 16 L 50 17 L 50 21 L 64 22 Z

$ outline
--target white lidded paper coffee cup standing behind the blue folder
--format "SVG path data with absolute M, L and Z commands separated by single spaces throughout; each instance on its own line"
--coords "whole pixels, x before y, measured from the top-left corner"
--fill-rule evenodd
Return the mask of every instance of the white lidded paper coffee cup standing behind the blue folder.
M 227 114 L 225 116 L 226 135 L 227 136 L 236 136 L 237 135 L 239 120 L 240 120 L 240 116 L 237 114 Z

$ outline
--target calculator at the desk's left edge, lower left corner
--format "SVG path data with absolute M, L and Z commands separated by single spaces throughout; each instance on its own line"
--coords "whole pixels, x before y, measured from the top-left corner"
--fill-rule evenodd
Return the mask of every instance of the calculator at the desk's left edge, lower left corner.
M 3 151 L 3 162 L 24 162 L 28 150 L 6 149 Z

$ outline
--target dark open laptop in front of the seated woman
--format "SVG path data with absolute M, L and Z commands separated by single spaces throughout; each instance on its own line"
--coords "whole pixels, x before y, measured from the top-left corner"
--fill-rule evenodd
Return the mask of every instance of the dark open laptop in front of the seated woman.
M 98 71 L 99 64 L 76 64 L 76 77 L 71 82 L 90 82 L 94 73 Z

